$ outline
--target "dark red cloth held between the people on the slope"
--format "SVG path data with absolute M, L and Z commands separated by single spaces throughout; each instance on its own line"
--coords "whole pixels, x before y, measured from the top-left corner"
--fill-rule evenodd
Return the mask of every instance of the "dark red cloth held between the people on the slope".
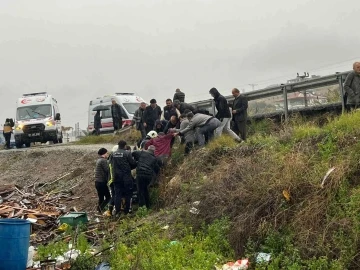
M 166 135 L 160 132 L 156 138 L 151 139 L 145 144 L 145 150 L 147 150 L 150 145 L 155 146 L 155 157 L 159 158 L 163 165 L 165 165 L 165 161 L 171 156 L 171 141 L 173 138 L 173 132 Z

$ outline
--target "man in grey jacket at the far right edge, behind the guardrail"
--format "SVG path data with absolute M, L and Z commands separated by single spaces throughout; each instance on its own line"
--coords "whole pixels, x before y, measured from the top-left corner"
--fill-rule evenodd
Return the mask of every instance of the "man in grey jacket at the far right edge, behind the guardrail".
M 348 109 L 357 109 L 360 105 L 360 62 L 354 63 L 353 70 L 347 75 L 344 83 Z

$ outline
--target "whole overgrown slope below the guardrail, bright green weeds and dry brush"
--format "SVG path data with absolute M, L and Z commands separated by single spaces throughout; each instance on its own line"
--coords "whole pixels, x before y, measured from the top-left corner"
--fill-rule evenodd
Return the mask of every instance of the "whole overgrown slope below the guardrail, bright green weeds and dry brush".
M 121 222 L 107 259 L 114 269 L 245 257 L 251 269 L 359 269 L 359 123 L 360 112 L 265 120 L 245 144 L 223 136 L 186 158 L 179 147 L 152 189 L 155 209 Z M 271 261 L 256 264 L 258 252 Z

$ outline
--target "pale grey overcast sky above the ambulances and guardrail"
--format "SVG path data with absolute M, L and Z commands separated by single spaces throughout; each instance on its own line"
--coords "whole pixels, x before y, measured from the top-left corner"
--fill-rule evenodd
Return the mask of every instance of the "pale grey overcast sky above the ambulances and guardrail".
M 89 100 L 134 92 L 163 106 L 283 83 L 360 60 L 358 0 L 0 0 L 0 122 L 47 91 L 63 125 Z M 3 119 L 3 120 L 1 120 Z

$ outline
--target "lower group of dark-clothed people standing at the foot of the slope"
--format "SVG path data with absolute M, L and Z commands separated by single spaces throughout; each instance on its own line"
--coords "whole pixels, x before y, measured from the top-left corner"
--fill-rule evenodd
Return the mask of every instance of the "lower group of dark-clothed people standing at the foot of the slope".
M 123 209 L 125 215 L 129 214 L 134 188 L 137 188 L 139 206 L 150 207 L 148 186 L 161 166 L 154 152 L 154 146 L 149 146 L 147 151 L 131 151 L 131 147 L 123 140 L 110 153 L 105 148 L 99 149 L 95 167 L 99 212 L 120 217 Z

